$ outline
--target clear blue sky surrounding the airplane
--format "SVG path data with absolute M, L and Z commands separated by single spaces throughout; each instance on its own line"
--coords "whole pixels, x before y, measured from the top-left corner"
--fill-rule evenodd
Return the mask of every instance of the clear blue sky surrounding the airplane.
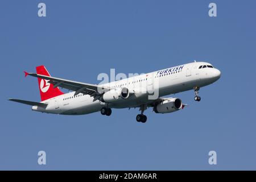
M 38 3 L 47 17 L 38 17 Z M 217 17 L 208 16 L 210 2 Z M 256 169 L 255 1 L 1 1 L 0 169 Z M 171 114 L 113 109 L 111 117 L 42 114 L 8 98 L 40 101 L 24 78 L 98 83 L 99 73 L 142 73 L 193 60 L 222 72 L 216 83 L 176 94 Z M 67 92 L 67 90 L 65 90 Z M 39 166 L 38 151 L 47 154 Z M 208 152 L 217 152 L 217 165 Z

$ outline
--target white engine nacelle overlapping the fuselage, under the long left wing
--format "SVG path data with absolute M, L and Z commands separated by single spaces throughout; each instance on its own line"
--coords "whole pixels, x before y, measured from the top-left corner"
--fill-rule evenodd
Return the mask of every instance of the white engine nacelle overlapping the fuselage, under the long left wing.
M 129 90 L 127 88 L 117 88 L 109 90 L 101 97 L 102 102 L 114 102 L 129 97 Z

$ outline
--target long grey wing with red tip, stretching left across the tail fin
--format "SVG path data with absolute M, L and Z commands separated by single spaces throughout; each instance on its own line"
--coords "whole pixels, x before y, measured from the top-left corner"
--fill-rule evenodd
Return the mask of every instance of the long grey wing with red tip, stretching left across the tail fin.
M 61 88 L 73 90 L 75 91 L 75 95 L 79 93 L 89 94 L 91 97 L 94 97 L 95 100 L 100 98 L 101 94 L 104 93 L 105 90 L 110 90 L 110 88 L 108 88 L 107 86 L 98 86 L 95 84 L 87 84 L 84 82 L 65 80 L 62 78 L 56 78 L 51 76 L 39 75 L 36 73 L 25 72 L 25 76 L 27 75 L 49 80 L 48 83 L 53 84 L 54 88 L 56 88 L 57 86 L 60 86 Z

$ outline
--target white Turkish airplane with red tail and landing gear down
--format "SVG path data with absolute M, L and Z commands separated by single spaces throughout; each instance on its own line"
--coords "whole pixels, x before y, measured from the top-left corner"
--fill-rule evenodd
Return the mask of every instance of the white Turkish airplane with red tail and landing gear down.
M 44 65 L 36 67 L 36 73 L 24 73 L 25 77 L 38 78 L 41 102 L 13 98 L 10 101 L 31 105 L 34 111 L 64 115 L 100 111 L 109 116 L 113 108 L 134 107 L 141 111 L 136 120 L 142 123 L 147 121 L 144 110 L 149 107 L 155 113 L 172 113 L 187 106 L 180 98 L 163 96 L 194 90 L 195 101 L 200 101 L 199 89 L 221 77 L 212 64 L 196 61 L 100 85 L 51 77 Z M 59 87 L 73 92 L 63 93 Z

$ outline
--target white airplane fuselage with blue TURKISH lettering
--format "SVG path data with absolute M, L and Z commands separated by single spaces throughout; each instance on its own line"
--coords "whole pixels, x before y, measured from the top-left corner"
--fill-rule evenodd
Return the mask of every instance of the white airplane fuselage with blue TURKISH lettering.
M 93 97 L 89 95 L 80 93 L 74 96 L 75 92 L 71 92 L 43 101 L 43 103 L 48 104 L 46 108 L 32 106 L 32 110 L 53 114 L 79 115 L 100 111 L 106 105 L 110 108 L 139 107 L 154 101 L 149 99 L 148 95 L 167 96 L 191 90 L 195 86 L 202 87 L 212 84 L 220 78 L 221 73 L 218 69 L 199 69 L 200 65 L 211 64 L 205 62 L 188 63 L 103 84 L 112 89 L 127 88 L 131 92 L 127 99 L 114 102 L 93 101 Z

